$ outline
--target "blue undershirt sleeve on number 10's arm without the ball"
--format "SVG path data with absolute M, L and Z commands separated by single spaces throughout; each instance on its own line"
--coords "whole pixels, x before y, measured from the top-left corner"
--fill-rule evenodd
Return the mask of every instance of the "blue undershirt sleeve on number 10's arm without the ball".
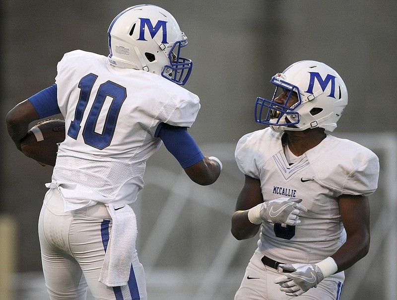
M 161 123 L 157 127 L 155 137 L 163 141 L 167 150 L 174 155 L 184 169 L 204 159 L 199 146 L 186 127 Z

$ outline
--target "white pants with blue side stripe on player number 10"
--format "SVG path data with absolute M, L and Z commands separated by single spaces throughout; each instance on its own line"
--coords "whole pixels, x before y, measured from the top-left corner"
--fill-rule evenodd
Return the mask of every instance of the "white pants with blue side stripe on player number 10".
M 58 189 L 47 192 L 39 218 L 44 278 L 51 300 L 85 300 L 87 287 L 96 300 L 146 300 L 146 282 L 136 250 L 128 285 L 98 281 L 112 218 L 105 205 L 64 212 Z

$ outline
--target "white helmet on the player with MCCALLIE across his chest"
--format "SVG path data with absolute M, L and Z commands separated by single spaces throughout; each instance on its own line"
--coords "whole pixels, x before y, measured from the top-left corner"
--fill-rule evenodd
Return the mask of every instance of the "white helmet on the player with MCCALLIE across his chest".
M 324 63 L 300 61 L 274 75 L 270 82 L 276 85 L 273 98 L 257 98 L 256 122 L 270 125 L 276 132 L 316 127 L 332 132 L 336 128 L 347 105 L 347 89 L 335 70 Z M 278 89 L 288 93 L 284 105 L 274 102 Z M 289 107 L 293 92 L 299 100 Z

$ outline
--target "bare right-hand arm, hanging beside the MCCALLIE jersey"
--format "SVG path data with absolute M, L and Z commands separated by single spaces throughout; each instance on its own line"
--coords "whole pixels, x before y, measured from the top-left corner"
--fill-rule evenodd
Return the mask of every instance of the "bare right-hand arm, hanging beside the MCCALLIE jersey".
M 339 211 L 347 233 L 346 242 L 331 255 L 338 272 L 350 268 L 367 255 L 370 244 L 370 209 L 368 197 L 342 195 Z

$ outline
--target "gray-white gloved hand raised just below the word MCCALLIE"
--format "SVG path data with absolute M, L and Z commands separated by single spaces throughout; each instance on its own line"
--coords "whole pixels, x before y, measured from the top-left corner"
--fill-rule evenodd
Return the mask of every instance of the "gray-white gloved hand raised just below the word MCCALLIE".
M 269 223 L 283 223 L 287 225 L 297 225 L 301 221 L 301 212 L 307 212 L 307 208 L 300 204 L 301 198 L 278 198 L 264 202 L 260 216 Z

